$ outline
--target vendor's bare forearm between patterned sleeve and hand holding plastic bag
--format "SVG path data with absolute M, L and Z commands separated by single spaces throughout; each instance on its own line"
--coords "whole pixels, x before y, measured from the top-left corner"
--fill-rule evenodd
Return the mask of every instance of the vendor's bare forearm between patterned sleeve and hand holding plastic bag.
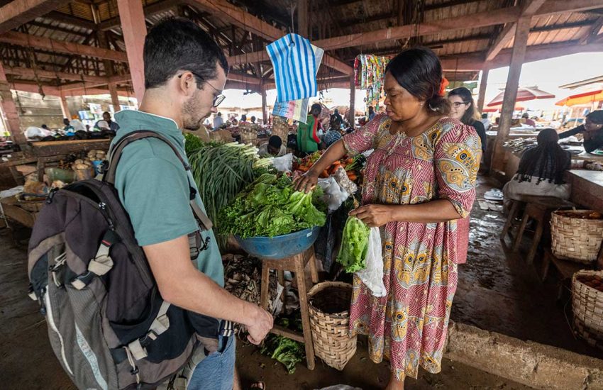
M 390 207 L 392 208 L 392 221 L 396 222 L 438 223 L 461 218 L 448 199 Z

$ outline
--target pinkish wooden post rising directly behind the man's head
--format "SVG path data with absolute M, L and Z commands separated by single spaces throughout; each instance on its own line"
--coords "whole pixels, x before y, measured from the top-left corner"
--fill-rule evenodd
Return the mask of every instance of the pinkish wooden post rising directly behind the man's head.
M 117 7 L 121 30 L 123 30 L 123 40 L 126 43 L 134 95 L 140 105 L 145 94 L 143 48 L 147 35 L 143 3 L 142 1 L 117 0 Z

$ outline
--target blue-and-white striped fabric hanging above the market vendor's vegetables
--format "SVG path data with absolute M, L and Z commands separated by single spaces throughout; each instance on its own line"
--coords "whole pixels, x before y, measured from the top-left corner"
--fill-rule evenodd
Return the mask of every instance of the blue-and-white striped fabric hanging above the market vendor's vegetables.
M 275 69 L 277 102 L 316 96 L 319 65 L 309 40 L 287 34 L 267 45 L 266 50 Z

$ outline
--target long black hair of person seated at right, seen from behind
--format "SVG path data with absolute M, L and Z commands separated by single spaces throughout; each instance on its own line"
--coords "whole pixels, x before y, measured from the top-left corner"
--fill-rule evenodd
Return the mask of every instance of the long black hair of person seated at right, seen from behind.
M 531 177 L 537 177 L 536 184 L 563 184 L 565 169 L 571 165 L 570 153 L 558 145 L 559 135 L 552 128 L 546 128 L 538 133 L 538 146 L 524 152 L 519 162 L 519 182 L 528 182 Z

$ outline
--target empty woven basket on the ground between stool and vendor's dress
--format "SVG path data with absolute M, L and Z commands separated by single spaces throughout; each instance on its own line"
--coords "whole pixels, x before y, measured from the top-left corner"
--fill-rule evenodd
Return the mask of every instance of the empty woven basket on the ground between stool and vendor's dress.
M 356 336 L 350 338 L 348 330 L 352 285 L 319 283 L 309 291 L 308 299 L 314 352 L 341 371 L 356 353 Z

